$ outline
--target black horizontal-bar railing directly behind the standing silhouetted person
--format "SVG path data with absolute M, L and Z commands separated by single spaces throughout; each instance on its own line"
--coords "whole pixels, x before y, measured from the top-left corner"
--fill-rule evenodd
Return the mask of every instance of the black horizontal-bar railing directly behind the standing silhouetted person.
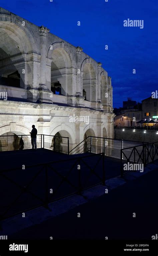
M 69 138 L 37 134 L 37 148 L 46 148 L 56 152 L 69 154 Z M 0 151 L 31 149 L 30 135 L 0 136 Z

